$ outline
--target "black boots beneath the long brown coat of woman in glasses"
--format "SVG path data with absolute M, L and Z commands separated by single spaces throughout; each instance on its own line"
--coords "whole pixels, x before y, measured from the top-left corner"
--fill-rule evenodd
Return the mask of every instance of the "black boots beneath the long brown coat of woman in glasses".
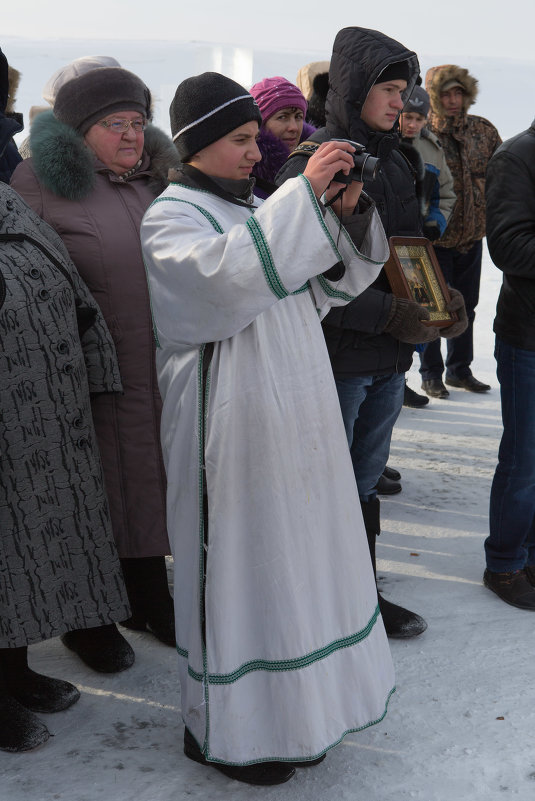
M 174 648 L 175 612 L 165 556 L 120 561 L 132 610 L 131 617 L 121 621 L 121 625 L 134 631 L 150 631 L 160 642 Z

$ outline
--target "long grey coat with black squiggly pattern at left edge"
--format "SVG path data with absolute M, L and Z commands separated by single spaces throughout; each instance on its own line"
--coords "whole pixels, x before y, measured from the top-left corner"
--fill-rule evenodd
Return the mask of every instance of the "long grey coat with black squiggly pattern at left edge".
M 0 183 L 0 648 L 129 614 L 89 400 L 120 391 L 61 240 Z

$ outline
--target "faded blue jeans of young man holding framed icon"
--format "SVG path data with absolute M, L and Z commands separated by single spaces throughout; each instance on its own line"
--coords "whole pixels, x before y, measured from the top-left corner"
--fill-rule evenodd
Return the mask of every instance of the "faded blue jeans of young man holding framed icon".
M 336 388 L 360 499 L 371 501 L 403 405 L 405 374 L 337 378 Z

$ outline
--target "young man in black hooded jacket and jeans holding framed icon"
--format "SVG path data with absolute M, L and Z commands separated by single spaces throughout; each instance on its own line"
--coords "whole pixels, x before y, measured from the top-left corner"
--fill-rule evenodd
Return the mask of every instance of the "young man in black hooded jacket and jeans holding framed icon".
M 399 42 L 379 31 L 344 28 L 333 46 L 326 127 L 311 137 L 317 143 L 351 139 L 380 159 L 380 169 L 373 180 L 364 182 L 364 189 L 375 201 L 387 236 L 421 236 L 414 173 L 399 151 L 394 131 L 418 74 L 416 54 Z M 302 172 L 306 158 L 306 150 L 300 155 L 298 148 L 279 172 L 277 183 Z M 462 298 L 454 295 L 450 308 L 458 309 Z M 323 324 L 374 567 L 375 538 L 380 533 L 375 488 L 388 459 L 414 345 L 459 333 L 457 324 L 438 329 L 427 326 L 427 319 L 423 306 L 394 297 L 381 271 L 369 289 L 347 306 L 332 310 Z M 379 606 L 390 636 L 412 637 L 427 627 L 419 615 L 381 595 Z

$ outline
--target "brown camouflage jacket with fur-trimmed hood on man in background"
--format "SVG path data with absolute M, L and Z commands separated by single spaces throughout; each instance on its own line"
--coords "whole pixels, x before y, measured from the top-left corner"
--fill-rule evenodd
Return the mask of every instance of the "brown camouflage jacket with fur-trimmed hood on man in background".
M 446 82 L 456 80 L 464 88 L 463 111 L 446 117 L 440 100 Z M 477 80 L 455 64 L 431 67 L 426 75 L 431 100 L 428 128 L 438 137 L 453 175 L 457 196 L 444 236 L 435 244 L 461 253 L 485 236 L 485 171 L 501 144 L 498 131 L 488 120 L 468 114 L 477 97 Z

